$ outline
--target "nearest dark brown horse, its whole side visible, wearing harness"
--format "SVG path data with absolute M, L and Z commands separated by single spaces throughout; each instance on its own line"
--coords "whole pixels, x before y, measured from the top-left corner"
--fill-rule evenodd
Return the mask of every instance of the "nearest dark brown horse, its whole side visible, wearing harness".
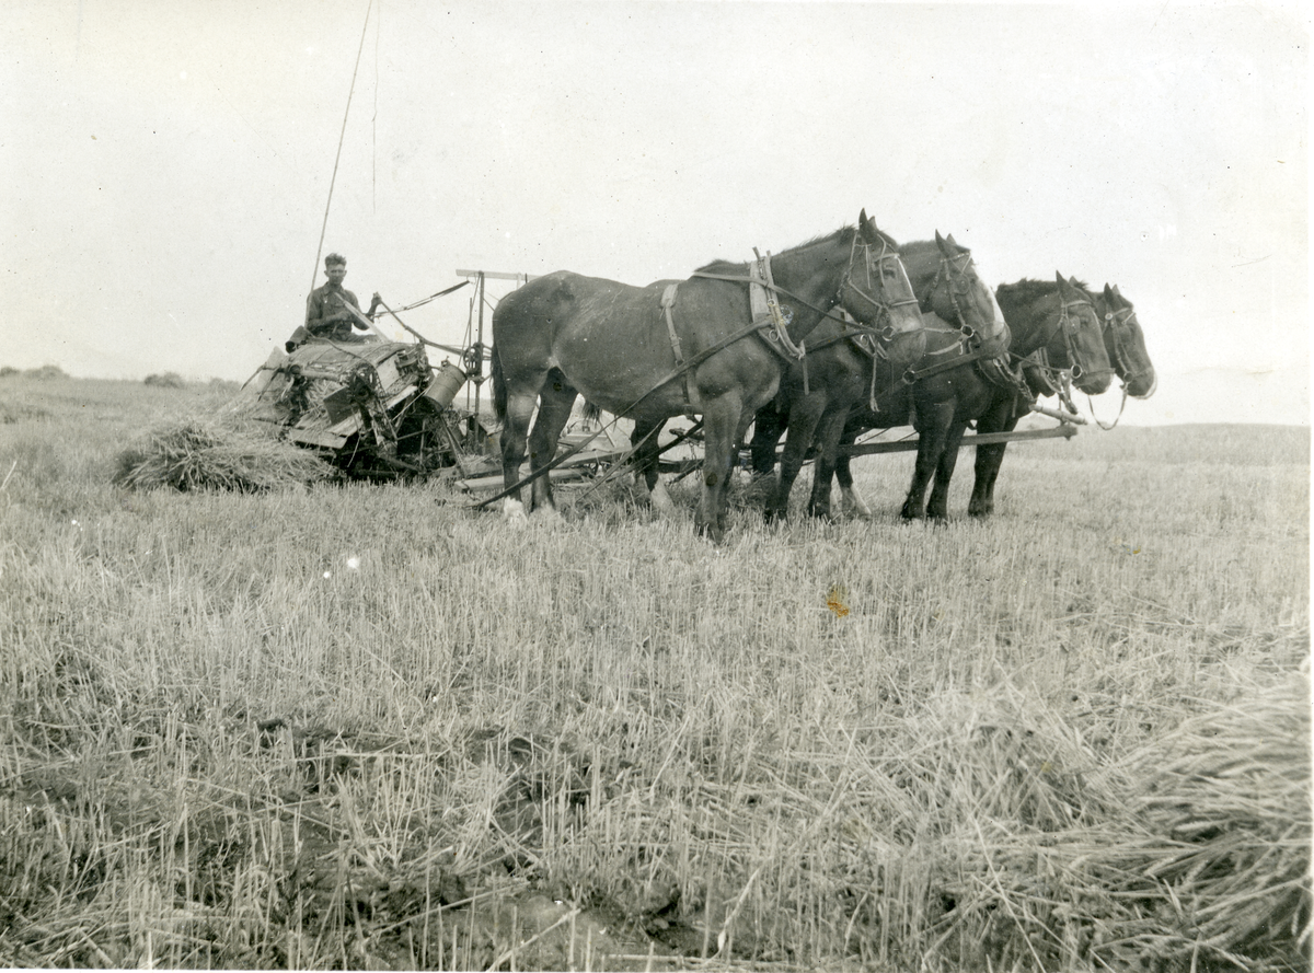
M 646 288 L 558 270 L 503 298 L 493 315 L 493 393 L 505 420 L 507 515 L 524 513 L 516 482 L 526 439 L 531 467 L 541 470 L 582 393 L 594 406 L 633 419 L 636 433 L 656 431 L 674 415 L 703 418 L 696 520 L 720 541 L 737 444 L 775 394 L 794 349 L 830 309 L 842 306 L 887 341 L 921 327 L 903 263 L 866 211 L 857 227 L 774 256 L 770 273 L 783 331 L 775 337 L 763 336 L 770 324 L 753 315 L 749 278 L 756 274 L 748 264 L 710 264 L 678 286 Z M 533 481 L 532 506 L 555 509 L 548 477 Z

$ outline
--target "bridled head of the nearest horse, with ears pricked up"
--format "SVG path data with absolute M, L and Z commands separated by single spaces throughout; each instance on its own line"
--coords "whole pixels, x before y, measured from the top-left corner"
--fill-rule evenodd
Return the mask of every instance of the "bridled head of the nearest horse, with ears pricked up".
M 907 368 L 925 352 L 926 334 L 917 294 L 908 280 L 899 244 L 876 228 L 866 209 L 858 215 L 849 269 L 840 284 L 840 305 L 875 330 L 896 366 Z

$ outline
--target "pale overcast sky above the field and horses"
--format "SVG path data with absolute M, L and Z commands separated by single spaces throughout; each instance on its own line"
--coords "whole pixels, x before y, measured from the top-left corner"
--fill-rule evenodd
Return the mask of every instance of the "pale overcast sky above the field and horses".
M 392 305 L 457 268 L 685 277 L 866 207 L 992 284 L 1118 284 L 1159 369 L 1126 423 L 1309 422 L 1297 4 L 0 9 L 0 365 L 244 379 L 325 280 L 326 207 Z M 468 294 L 403 316 L 460 343 Z

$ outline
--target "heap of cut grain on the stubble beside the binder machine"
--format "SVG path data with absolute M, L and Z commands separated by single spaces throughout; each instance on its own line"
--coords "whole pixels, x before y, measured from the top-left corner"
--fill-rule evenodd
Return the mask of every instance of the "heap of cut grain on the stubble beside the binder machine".
M 120 486 L 258 491 L 334 475 L 314 453 L 280 441 L 251 423 L 188 419 L 159 427 L 118 454 Z

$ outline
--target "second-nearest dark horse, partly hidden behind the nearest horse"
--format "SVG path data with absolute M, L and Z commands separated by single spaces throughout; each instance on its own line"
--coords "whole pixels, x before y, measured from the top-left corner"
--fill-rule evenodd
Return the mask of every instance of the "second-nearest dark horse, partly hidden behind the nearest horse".
M 995 294 L 976 273 L 971 252 L 959 247 L 953 235 L 943 239 L 937 232 L 934 243 L 908 243 L 899 253 L 928 320 L 940 322 L 941 331 L 950 327 L 946 320 L 954 322 L 953 332 L 974 347 L 993 343 L 1003 348 L 1007 344 L 1008 330 Z M 941 344 L 943 341 L 937 339 L 936 347 Z M 770 471 L 779 439 L 779 427 L 773 428 L 773 419 L 781 408 L 788 412 L 788 439 L 781 457 L 781 477 L 767 503 L 767 519 L 784 516 L 809 446 L 829 452 L 833 461 L 849 415 L 878 393 L 887 391 L 904 372 L 900 362 L 879 355 L 879 349 L 836 322 L 824 322 L 813 332 L 811 348 L 807 372 L 800 365 L 792 366 L 777 402 L 759 410 L 756 418 L 754 461 L 761 458 L 757 450 L 769 441 L 766 471 Z M 925 347 L 922 352 L 925 355 Z M 930 357 L 934 360 L 942 353 L 934 352 Z M 825 515 L 828 504 L 817 509 L 813 494 L 811 509 Z

